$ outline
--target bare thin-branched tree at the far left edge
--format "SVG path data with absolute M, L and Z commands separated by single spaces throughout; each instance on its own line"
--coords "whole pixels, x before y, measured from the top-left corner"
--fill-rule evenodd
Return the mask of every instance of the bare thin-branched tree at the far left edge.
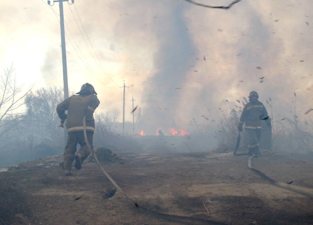
M 16 123 L 26 114 L 21 110 L 23 99 L 32 90 L 30 87 L 22 93 L 23 85 L 18 86 L 16 77 L 13 75 L 14 68 L 4 69 L 0 80 L 0 136 L 14 128 Z

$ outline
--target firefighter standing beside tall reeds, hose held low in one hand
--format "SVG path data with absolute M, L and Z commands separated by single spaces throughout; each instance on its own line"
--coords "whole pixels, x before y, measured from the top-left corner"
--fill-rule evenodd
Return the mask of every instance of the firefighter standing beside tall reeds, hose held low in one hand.
M 245 124 L 244 130 L 249 135 L 249 155 L 257 157 L 260 155 L 259 142 L 261 138 L 261 121 L 264 120 L 269 128 L 271 128 L 271 120 L 267 114 L 266 108 L 262 102 L 258 100 L 259 95 L 256 91 L 251 91 L 249 94 L 249 102 L 244 105 L 242 110 L 238 130 L 242 131 L 242 126 Z

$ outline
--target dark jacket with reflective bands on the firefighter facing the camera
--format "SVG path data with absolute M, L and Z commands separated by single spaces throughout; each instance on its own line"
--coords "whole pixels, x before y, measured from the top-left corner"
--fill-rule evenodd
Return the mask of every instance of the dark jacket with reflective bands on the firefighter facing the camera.
M 267 120 L 268 114 L 265 106 L 259 100 L 249 101 L 244 105 L 239 125 L 245 123 L 245 129 L 261 129 L 261 120 Z M 269 122 L 270 123 L 270 122 Z

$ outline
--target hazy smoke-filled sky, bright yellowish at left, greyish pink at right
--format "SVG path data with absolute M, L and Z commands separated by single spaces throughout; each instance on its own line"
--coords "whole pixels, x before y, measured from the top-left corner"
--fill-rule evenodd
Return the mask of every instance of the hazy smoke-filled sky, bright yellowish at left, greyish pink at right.
M 135 118 L 141 108 L 145 124 L 136 132 L 187 129 L 193 118 L 206 123 L 202 115 L 218 120 L 251 90 L 263 103 L 273 100 L 277 119 L 290 115 L 295 100 L 302 118 L 312 108 L 310 0 L 241 1 L 229 10 L 181 0 L 74 4 L 79 17 L 64 4 L 69 90 L 89 82 L 101 102 L 97 111 L 121 111 L 125 80 L 126 121 L 133 96 Z M 17 76 L 38 88 L 62 86 L 58 3 L 5 2 L 0 10 L 2 67 L 13 62 Z

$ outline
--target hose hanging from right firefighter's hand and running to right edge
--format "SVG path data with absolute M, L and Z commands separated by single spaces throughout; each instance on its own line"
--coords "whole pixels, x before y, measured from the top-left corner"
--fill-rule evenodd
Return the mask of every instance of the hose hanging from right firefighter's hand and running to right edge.
M 237 137 L 237 143 L 236 143 L 235 151 L 234 151 L 233 154 L 236 155 L 236 156 L 239 156 L 239 155 L 247 155 L 248 153 L 240 153 L 240 154 L 237 153 L 237 150 L 238 150 L 238 148 L 239 148 L 239 144 L 240 144 L 240 132 L 239 132 L 238 137 Z M 287 190 L 290 190 L 290 191 L 293 191 L 293 192 L 296 192 L 296 193 L 299 193 L 299 194 L 303 194 L 303 195 L 308 196 L 308 197 L 310 197 L 310 198 L 313 198 L 313 195 L 312 195 L 311 193 L 307 193 L 307 192 L 305 192 L 305 191 L 299 190 L 299 189 L 294 188 L 294 187 L 292 187 L 292 186 L 290 186 L 290 185 L 288 185 L 288 184 L 285 184 L 285 183 L 277 182 L 277 181 L 275 181 L 275 180 L 269 178 L 268 176 L 266 176 L 266 175 L 265 175 L 264 173 L 262 173 L 261 171 L 259 171 L 259 170 L 255 169 L 255 168 L 253 168 L 253 166 L 252 166 L 252 159 L 253 159 L 253 158 L 254 158 L 253 156 L 250 156 L 250 157 L 248 158 L 248 168 L 251 169 L 253 172 L 259 174 L 263 179 L 269 181 L 269 183 L 271 183 L 271 184 L 273 184 L 273 185 L 275 185 L 275 186 L 277 186 L 277 187 L 284 188 L 284 189 L 287 189 Z

